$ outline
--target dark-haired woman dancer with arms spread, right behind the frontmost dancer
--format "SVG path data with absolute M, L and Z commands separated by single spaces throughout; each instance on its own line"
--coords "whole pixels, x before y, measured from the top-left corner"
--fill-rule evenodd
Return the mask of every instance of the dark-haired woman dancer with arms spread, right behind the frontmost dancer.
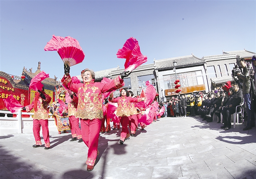
M 117 103 L 117 112 L 116 115 L 120 117 L 120 121 L 122 121 L 122 131 L 120 135 L 120 143 L 123 144 L 125 141 L 125 138 L 129 138 L 130 134 L 128 131 L 128 123 L 129 123 L 129 117 L 131 116 L 131 110 L 130 105 L 131 103 L 137 103 L 140 101 L 144 101 L 145 98 L 131 98 L 129 97 L 129 92 L 127 89 L 122 88 L 121 94 L 117 98 L 113 98 L 113 94 L 110 94 L 109 101 L 112 103 Z

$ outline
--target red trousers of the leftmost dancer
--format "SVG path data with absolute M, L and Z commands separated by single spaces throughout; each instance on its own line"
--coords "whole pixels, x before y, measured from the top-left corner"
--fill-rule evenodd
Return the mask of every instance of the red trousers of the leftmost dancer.
M 33 119 L 33 133 L 36 140 L 36 145 L 42 145 L 40 137 L 40 129 L 42 126 L 42 133 L 44 137 L 44 146 L 50 147 L 49 129 L 48 129 L 48 119 L 35 120 Z

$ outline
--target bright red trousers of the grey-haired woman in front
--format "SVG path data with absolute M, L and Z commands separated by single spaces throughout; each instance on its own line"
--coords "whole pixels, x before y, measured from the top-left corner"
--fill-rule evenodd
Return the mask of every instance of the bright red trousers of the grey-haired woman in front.
M 81 119 L 80 123 L 82 138 L 84 143 L 88 147 L 88 156 L 86 164 L 94 166 L 97 157 L 101 120 Z

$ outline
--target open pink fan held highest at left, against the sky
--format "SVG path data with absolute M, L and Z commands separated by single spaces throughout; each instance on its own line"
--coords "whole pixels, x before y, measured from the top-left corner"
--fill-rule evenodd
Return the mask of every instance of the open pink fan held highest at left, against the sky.
M 84 60 L 84 52 L 79 42 L 72 37 L 60 37 L 52 35 L 52 39 L 44 47 L 45 51 L 57 50 L 64 64 L 73 66 Z

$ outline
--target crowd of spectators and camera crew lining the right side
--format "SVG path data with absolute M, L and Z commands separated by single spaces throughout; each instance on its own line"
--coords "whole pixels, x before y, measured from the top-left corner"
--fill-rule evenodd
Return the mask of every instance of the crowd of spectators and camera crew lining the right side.
M 255 127 L 256 118 L 256 54 L 252 57 L 252 67 L 245 60 L 240 59 L 241 72 L 237 73 L 238 80 L 231 85 L 227 81 L 221 87 L 214 88 L 210 92 L 196 92 L 186 95 L 177 95 L 171 100 L 164 102 L 166 112 L 165 117 L 186 117 L 200 116 L 202 121 L 208 123 L 213 121 L 214 114 L 218 117 L 218 123 L 222 123 L 221 129 L 229 130 L 231 128 L 231 115 L 236 112 L 236 107 L 242 105 L 243 117 L 246 121 L 246 127 L 249 130 Z M 237 112 L 241 107 L 237 108 Z M 237 119 L 239 120 L 239 119 Z

